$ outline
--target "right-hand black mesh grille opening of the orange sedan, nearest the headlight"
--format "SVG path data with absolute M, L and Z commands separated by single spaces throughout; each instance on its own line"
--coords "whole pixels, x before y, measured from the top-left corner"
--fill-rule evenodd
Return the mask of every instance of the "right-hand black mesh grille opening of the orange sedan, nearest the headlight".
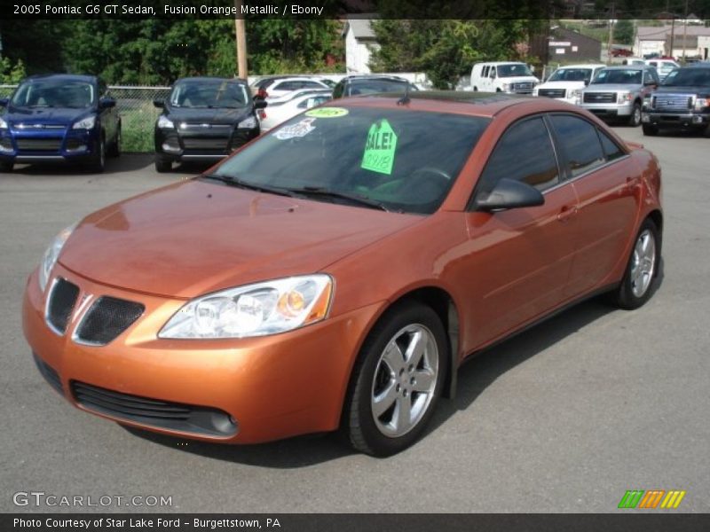
M 128 329 L 146 308 L 140 303 L 102 296 L 94 301 L 76 331 L 76 338 L 104 346 Z

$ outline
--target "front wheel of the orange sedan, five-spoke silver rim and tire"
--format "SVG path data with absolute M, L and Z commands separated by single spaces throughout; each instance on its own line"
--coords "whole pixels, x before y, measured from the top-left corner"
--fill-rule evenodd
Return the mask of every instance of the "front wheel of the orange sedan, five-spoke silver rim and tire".
M 448 342 L 437 314 L 406 301 L 390 309 L 360 351 L 343 413 L 351 446 L 385 457 L 421 435 L 441 395 Z

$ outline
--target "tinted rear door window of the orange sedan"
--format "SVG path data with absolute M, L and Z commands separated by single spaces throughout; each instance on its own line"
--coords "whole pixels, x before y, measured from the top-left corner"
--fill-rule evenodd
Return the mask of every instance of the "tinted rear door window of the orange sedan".
M 596 126 L 570 114 L 556 114 L 550 119 L 562 146 L 570 176 L 579 176 L 604 164 L 606 159 L 596 135 Z

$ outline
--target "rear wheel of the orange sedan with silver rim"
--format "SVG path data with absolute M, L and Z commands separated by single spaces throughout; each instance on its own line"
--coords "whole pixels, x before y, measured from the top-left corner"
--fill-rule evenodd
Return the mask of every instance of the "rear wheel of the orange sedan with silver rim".
M 621 284 L 611 293 L 611 302 L 621 309 L 638 309 L 649 301 L 658 279 L 661 237 L 650 218 L 642 223 L 628 259 Z

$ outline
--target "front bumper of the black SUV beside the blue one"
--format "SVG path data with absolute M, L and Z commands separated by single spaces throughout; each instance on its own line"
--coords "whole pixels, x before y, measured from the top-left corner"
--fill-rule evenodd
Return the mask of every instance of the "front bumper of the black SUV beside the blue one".
M 163 160 L 220 160 L 259 136 L 259 128 L 205 128 L 183 132 L 177 129 L 155 129 L 155 153 Z

